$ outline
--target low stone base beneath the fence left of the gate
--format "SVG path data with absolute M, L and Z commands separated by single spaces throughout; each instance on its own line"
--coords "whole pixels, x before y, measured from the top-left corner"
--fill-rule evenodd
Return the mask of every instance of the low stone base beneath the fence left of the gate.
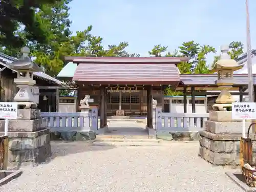
M 96 132 L 94 131 L 51 132 L 51 140 L 84 141 L 84 140 L 94 140 L 95 138 L 96 138 Z

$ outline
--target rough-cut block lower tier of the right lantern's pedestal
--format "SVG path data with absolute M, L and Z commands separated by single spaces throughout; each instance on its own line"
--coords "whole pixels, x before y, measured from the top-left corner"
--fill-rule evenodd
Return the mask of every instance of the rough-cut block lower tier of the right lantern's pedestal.
M 199 132 L 199 156 L 215 165 L 240 165 L 240 138 L 242 134 L 212 134 L 206 131 Z M 252 139 L 252 158 L 256 158 L 256 139 Z

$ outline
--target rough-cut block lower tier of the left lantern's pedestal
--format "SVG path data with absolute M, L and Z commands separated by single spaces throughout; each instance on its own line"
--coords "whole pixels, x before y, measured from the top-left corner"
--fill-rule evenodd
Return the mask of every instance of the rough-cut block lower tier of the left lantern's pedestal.
M 37 165 L 51 157 L 50 131 L 9 132 L 8 167 Z

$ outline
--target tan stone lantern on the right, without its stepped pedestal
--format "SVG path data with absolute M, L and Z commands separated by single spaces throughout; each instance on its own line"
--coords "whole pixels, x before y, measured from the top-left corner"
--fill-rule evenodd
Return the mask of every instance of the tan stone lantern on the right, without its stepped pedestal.
M 215 83 L 221 90 L 216 103 L 212 105 L 215 111 L 231 111 L 232 102 L 236 101 L 229 93 L 233 85 L 233 71 L 243 68 L 243 65 L 238 65 L 236 60 L 230 58 L 228 49 L 228 46 L 221 47 L 221 58 L 211 70 L 218 73 L 218 80 Z

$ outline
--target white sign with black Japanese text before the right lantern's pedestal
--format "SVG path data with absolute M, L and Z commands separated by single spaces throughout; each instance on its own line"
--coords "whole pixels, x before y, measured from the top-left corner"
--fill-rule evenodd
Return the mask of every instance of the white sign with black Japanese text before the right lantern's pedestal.
M 234 102 L 232 103 L 232 119 L 256 119 L 256 103 Z

